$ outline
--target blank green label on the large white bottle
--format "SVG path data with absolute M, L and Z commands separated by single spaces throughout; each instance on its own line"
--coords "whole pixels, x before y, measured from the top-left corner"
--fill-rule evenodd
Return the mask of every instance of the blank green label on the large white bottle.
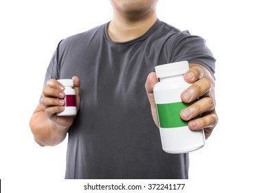
M 181 110 L 187 108 L 190 103 L 157 104 L 160 128 L 179 128 L 188 125 L 188 121 L 181 119 Z

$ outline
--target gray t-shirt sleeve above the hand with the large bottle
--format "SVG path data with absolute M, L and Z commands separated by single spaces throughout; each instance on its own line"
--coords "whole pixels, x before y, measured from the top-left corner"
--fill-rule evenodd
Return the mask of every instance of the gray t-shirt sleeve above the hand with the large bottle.
M 171 61 L 188 61 L 199 63 L 208 68 L 212 76 L 215 74 L 216 59 L 206 41 L 198 36 L 191 35 L 188 31 L 182 32 L 172 45 Z

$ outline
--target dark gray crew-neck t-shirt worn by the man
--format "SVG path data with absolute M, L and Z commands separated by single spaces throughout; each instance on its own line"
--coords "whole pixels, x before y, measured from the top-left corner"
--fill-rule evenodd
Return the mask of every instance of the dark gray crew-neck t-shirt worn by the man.
M 47 79 L 81 81 L 80 111 L 68 133 L 66 179 L 188 179 L 188 154 L 168 154 L 144 84 L 155 65 L 188 60 L 214 74 L 201 37 L 157 20 L 142 37 L 117 43 L 109 23 L 60 41 Z

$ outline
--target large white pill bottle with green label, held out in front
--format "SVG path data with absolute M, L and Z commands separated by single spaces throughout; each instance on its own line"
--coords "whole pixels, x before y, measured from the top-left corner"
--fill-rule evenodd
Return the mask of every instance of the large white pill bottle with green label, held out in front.
M 183 79 L 189 69 L 188 61 L 157 65 L 158 82 L 153 88 L 162 148 L 171 154 L 187 153 L 205 145 L 203 130 L 192 131 L 188 121 L 183 121 L 181 110 L 192 103 L 181 101 L 181 92 L 190 87 Z

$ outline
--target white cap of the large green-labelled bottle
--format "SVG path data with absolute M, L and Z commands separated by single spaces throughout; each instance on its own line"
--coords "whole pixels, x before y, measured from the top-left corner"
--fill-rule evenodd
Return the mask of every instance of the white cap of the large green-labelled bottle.
M 184 74 L 189 70 L 188 61 L 179 61 L 155 66 L 157 78 L 172 77 L 178 74 Z

